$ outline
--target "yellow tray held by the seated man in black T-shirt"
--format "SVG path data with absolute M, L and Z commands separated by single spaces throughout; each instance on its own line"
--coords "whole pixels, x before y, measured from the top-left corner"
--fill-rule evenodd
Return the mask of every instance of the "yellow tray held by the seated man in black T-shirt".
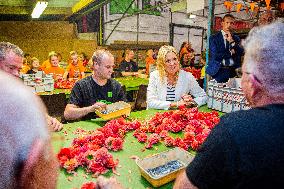
M 131 105 L 123 101 L 119 101 L 119 102 L 115 102 L 115 103 L 107 105 L 106 110 L 109 111 L 117 107 L 119 107 L 118 110 L 110 112 L 108 114 L 103 114 L 102 112 L 98 110 L 96 110 L 96 114 L 103 120 L 114 119 L 122 115 L 126 115 L 126 116 L 130 115 Z

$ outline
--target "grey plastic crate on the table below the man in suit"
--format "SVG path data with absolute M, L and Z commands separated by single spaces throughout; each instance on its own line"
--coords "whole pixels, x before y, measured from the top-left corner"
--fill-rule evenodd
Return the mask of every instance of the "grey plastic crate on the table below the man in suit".
M 207 106 L 226 113 L 250 108 L 240 88 L 240 79 L 235 78 L 228 83 L 209 81 Z

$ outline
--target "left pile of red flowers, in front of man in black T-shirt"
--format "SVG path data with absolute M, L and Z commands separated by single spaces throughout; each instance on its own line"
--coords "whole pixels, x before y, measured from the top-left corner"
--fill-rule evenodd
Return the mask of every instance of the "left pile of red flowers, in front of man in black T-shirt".
M 127 123 L 124 118 L 111 120 L 95 131 L 80 128 L 71 147 L 62 148 L 58 153 L 61 167 L 72 173 L 79 166 L 94 176 L 106 173 L 109 169 L 115 173 L 118 160 L 114 160 L 108 150 L 118 151 L 123 147 L 123 138 L 127 131 L 139 128 L 140 122 Z

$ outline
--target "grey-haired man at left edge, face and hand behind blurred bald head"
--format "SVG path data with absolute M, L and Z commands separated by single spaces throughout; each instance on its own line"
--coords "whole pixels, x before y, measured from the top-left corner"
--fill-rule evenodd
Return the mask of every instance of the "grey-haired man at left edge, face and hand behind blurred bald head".
M 0 70 L 19 77 L 23 67 L 24 52 L 17 45 L 9 42 L 0 42 Z M 53 131 L 60 131 L 63 125 L 46 114 L 47 122 Z

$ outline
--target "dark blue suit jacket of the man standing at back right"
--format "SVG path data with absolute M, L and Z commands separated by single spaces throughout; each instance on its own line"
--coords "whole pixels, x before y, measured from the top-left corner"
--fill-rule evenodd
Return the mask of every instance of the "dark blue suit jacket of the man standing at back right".
M 235 54 L 233 54 L 233 56 L 230 51 L 225 48 L 224 38 L 221 31 L 209 38 L 210 59 L 206 68 L 206 73 L 211 75 L 213 78 L 222 66 L 223 59 L 226 60 L 232 58 L 234 61 L 234 68 L 239 68 L 241 66 L 241 56 L 243 55 L 244 50 L 239 45 L 240 38 L 234 34 L 232 37 L 235 41 L 235 46 L 230 46 L 230 49 L 235 50 Z

